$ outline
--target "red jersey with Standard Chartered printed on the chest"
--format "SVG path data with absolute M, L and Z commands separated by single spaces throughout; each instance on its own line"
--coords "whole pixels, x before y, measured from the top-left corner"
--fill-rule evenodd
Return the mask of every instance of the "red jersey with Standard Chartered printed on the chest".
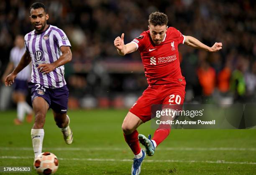
M 178 45 L 184 43 L 184 36 L 175 28 L 168 28 L 164 40 L 155 45 L 149 30 L 144 31 L 132 42 L 141 52 L 145 75 L 149 85 L 177 83 L 186 85 L 179 65 Z

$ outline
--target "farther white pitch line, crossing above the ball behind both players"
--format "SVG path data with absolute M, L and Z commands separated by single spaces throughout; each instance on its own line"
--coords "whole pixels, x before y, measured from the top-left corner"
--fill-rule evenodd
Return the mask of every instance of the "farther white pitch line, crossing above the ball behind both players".
M 32 147 L 0 147 L 0 150 L 33 150 Z M 122 151 L 128 148 L 43 148 L 43 150 L 57 151 Z M 177 150 L 177 151 L 256 151 L 256 148 L 157 148 L 159 151 Z

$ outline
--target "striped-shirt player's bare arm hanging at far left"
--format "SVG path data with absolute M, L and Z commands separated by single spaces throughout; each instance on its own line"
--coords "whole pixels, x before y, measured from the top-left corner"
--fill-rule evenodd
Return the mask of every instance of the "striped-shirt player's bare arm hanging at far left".
M 18 73 L 23 70 L 29 63 L 31 62 L 31 57 L 29 52 L 25 52 L 18 66 L 5 78 L 5 86 L 10 86 L 13 84 L 15 77 L 17 77 Z

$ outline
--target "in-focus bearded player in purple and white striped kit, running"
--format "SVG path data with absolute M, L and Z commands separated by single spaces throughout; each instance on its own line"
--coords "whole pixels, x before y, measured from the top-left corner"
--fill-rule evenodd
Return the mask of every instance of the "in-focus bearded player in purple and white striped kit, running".
M 31 129 L 35 158 L 42 152 L 43 128 L 49 107 L 65 142 L 71 144 L 73 141 L 67 115 L 69 90 L 64 79 L 64 64 L 72 60 L 71 45 L 61 29 L 46 23 L 48 18 L 44 4 L 35 2 L 31 5 L 30 20 L 35 30 L 25 35 L 26 52 L 18 66 L 5 78 L 5 85 L 12 85 L 18 72 L 32 60 L 31 82 L 28 85 L 35 113 Z

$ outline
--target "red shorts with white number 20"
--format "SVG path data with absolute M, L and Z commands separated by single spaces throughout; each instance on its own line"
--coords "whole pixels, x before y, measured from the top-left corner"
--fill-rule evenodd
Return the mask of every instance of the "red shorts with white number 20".
M 151 120 L 152 105 L 182 105 L 185 93 L 185 85 L 167 84 L 148 86 L 129 111 L 139 117 L 143 122 L 147 122 Z

